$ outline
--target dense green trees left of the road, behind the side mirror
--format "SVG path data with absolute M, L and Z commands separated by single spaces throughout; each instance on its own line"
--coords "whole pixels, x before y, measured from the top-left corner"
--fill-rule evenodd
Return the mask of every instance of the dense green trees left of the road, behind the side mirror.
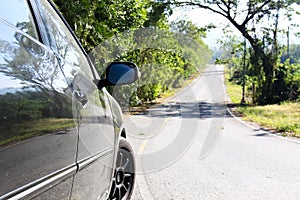
M 140 0 L 55 3 L 100 74 L 116 60 L 138 65 L 139 83 L 108 88 L 122 106 L 154 101 L 179 87 L 210 60 L 211 53 L 201 37 L 211 26 L 199 28 L 186 21 L 169 25 L 169 4 Z

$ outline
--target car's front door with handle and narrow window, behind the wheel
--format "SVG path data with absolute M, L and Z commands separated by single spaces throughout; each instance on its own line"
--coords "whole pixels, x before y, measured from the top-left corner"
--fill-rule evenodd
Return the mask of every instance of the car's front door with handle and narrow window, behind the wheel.
M 113 174 L 114 146 L 117 135 L 108 93 L 98 90 L 99 76 L 66 23 L 47 1 L 40 9 L 51 48 L 57 51 L 61 69 L 71 86 L 73 110 L 78 126 L 78 173 L 73 183 L 72 199 L 105 198 Z

